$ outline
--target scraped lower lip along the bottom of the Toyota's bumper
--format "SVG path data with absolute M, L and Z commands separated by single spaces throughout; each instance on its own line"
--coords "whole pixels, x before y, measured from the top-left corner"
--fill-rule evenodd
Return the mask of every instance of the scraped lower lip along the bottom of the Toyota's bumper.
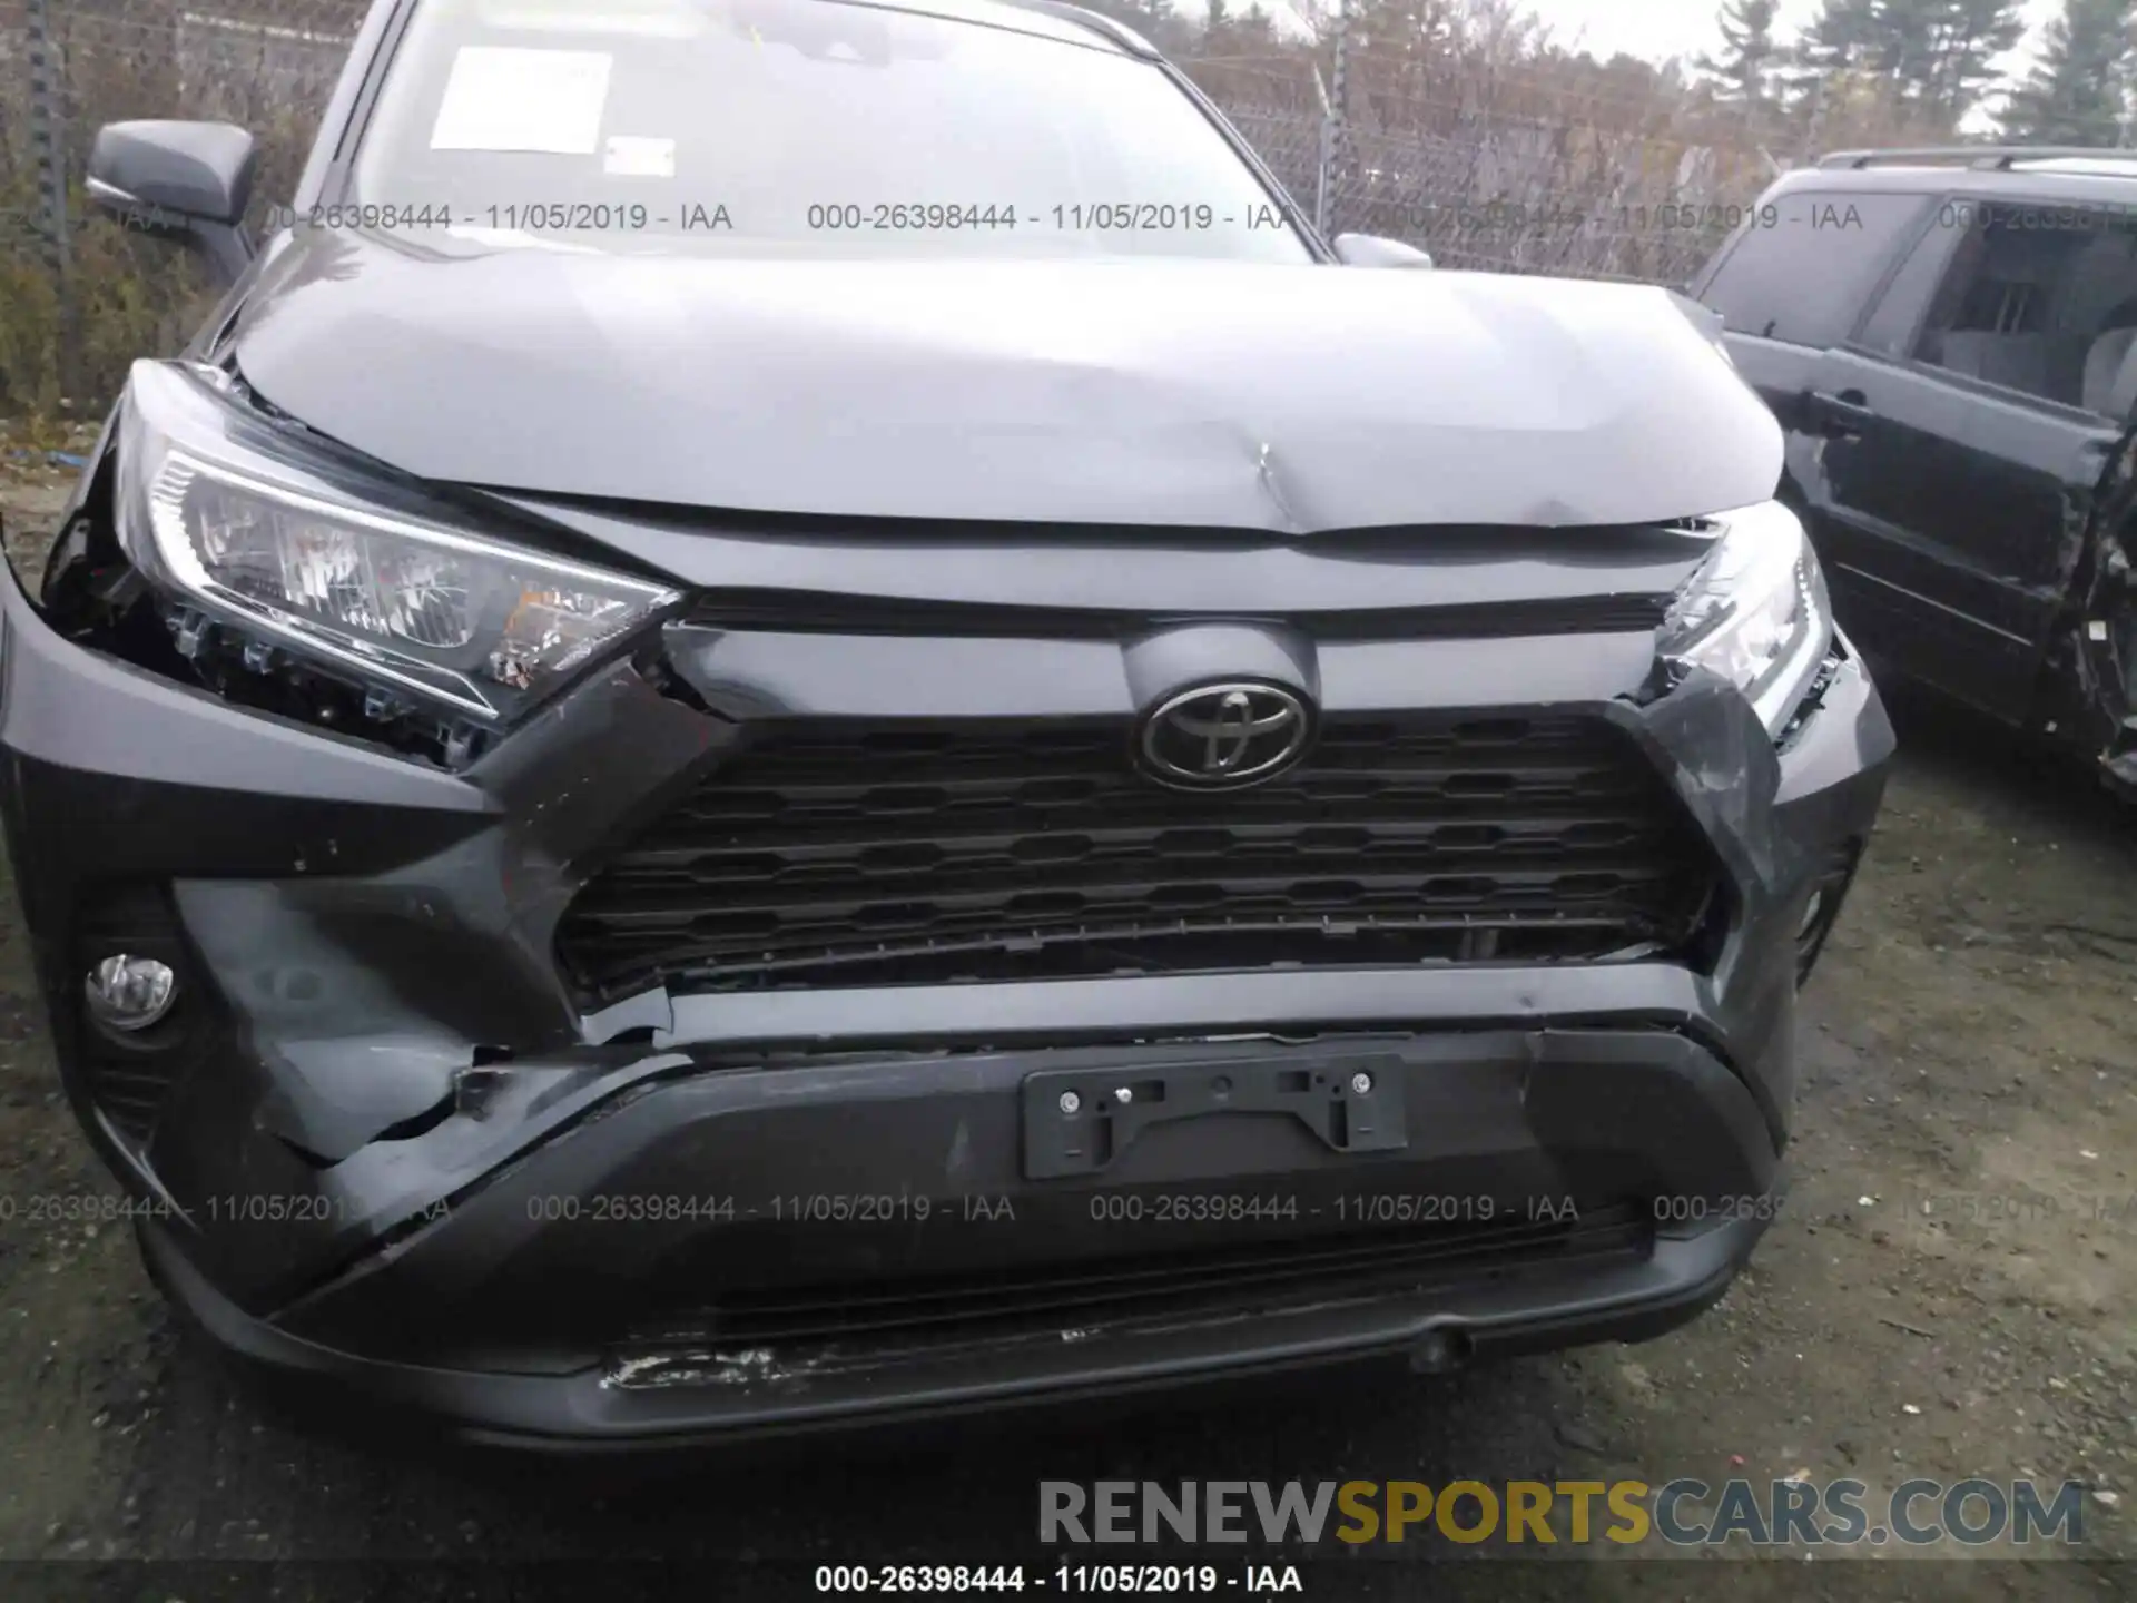
M 1190 1391 L 1374 1357 L 1408 1355 L 1415 1368 L 1440 1370 L 1472 1357 L 1637 1342 L 1712 1306 L 1761 1233 L 1759 1220 L 1740 1218 L 1695 1238 L 1658 1240 L 1637 1263 L 1534 1276 L 1519 1291 L 1470 1285 L 1430 1297 L 1361 1297 L 1212 1327 L 1120 1327 L 1098 1342 L 1002 1342 L 983 1353 L 960 1349 L 844 1372 L 759 1364 L 746 1349 L 677 1361 L 648 1372 L 641 1385 L 618 1385 L 605 1366 L 524 1372 L 359 1359 L 246 1314 L 167 1231 L 147 1229 L 143 1250 L 156 1282 L 209 1338 L 271 1385 L 295 1383 L 308 1406 L 355 1419 L 391 1404 L 474 1447 L 637 1456 Z

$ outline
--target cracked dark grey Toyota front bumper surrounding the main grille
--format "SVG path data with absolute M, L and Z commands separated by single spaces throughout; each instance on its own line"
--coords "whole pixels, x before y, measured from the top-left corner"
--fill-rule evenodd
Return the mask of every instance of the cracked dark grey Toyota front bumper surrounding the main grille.
M 620 663 L 451 776 L 73 645 L 11 577 L 0 611 L 17 887 L 68 1096 L 152 1216 L 158 1280 L 274 1370 L 515 1443 L 690 1443 L 1688 1319 L 1772 1218 L 1799 928 L 1838 904 L 1891 752 L 1853 660 L 1776 750 L 1716 682 L 1639 703 L 1639 635 L 1325 645 L 1327 705 L 1489 684 L 1626 729 L 1727 878 L 1714 960 L 592 1009 L 553 951 L 583 863 L 718 761 L 727 720 Z M 697 654 L 686 678 L 727 705 L 806 714 L 883 714 L 889 684 L 951 716 L 1126 692 L 1118 660 L 1098 671 L 1111 645 L 1043 680 L 972 675 L 970 641 L 842 645 L 684 628 L 669 654 Z M 122 1062 L 79 1007 L 113 945 L 169 951 L 194 998 Z M 1404 1143 L 1201 1120 L 1101 1173 L 1030 1176 L 1030 1075 L 1222 1060 L 1336 1084 L 1370 1064 L 1402 1088 Z

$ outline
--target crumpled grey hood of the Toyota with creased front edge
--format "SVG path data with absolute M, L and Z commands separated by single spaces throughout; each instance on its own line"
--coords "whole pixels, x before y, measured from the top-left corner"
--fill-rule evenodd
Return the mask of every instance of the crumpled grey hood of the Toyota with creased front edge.
M 1246 263 L 291 244 L 252 387 L 406 472 L 831 517 L 1635 524 L 1782 436 L 1660 289 Z

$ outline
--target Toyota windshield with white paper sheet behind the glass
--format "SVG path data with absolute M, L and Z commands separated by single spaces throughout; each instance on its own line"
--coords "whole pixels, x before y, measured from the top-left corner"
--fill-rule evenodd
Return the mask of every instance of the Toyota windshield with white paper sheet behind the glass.
M 1163 68 L 989 0 L 425 0 L 312 222 L 440 248 L 1312 261 Z

